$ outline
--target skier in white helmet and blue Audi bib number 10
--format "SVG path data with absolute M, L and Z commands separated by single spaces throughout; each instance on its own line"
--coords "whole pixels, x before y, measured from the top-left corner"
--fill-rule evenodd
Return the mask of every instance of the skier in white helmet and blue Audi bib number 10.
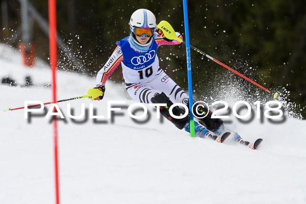
M 165 38 L 160 30 L 156 32 L 155 15 L 147 9 L 136 10 L 129 25 L 131 35 L 116 43 L 117 47 L 113 54 L 97 73 L 95 88 L 103 94 L 94 100 L 103 99 L 105 83 L 121 63 L 125 88 L 130 96 L 140 103 L 167 104 L 160 107 L 160 113 L 177 128 L 184 128 L 190 133 L 189 115 L 183 119 L 176 119 L 169 114 L 169 107 L 173 103 L 182 103 L 189 107 L 188 95 L 159 66 L 157 57 L 157 48 L 160 45 L 175 45 L 180 42 Z M 183 39 L 180 33 L 176 33 L 176 36 Z M 198 107 L 198 112 L 203 111 L 208 112 L 206 108 Z M 196 117 L 200 117 L 195 110 L 193 112 Z M 173 114 L 176 116 L 184 113 L 180 107 L 173 108 Z M 199 123 L 205 127 L 195 121 L 195 136 L 216 139 L 217 135 L 224 132 L 223 121 L 212 119 L 211 114 L 209 112 L 207 117 L 199 119 Z M 238 139 L 242 142 L 240 136 L 235 134 L 234 140 Z

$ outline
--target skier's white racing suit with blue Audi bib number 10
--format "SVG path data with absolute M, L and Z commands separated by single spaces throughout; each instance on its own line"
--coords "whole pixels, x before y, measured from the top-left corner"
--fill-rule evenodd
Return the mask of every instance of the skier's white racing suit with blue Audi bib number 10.
M 177 37 L 182 39 L 179 33 Z M 168 42 L 155 33 L 152 46 L 147 52 L 139 52 L 129 44 L 129 37 L 120 40 L 108 62 L 97 74 L 96 84 L 104 85 L 108 77 L 121 63 L 125 88 L 130 96 L 145 104 L 151 104 L 151 98 L 164 92 L 173 103 L 187 105 L 188 95 L 159 66 L 157 48 L 160 45 L 180 44 Z

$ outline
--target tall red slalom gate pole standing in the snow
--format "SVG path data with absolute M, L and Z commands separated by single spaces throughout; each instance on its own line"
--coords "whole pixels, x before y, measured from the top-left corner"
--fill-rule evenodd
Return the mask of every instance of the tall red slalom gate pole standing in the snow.
M 56 0 L 48 0 L 49 11 L 49 49 L 50 49 L 50 68 L 52 69 L 52 90 L 53 103 L 56 104 L 56 68 L 57 68 L 57 39 L 56 39 Z M 54 112 L 56 109 L 53 110 Z M 55 116 L 56 117 L 56 116 Z M 58 127 L 57 120 L 53 120 L 54 124 L 54 163 L 55 163 L 55 192 L 56 203 L 60 203 L 59 190 L 59 165 L 58 165 Z

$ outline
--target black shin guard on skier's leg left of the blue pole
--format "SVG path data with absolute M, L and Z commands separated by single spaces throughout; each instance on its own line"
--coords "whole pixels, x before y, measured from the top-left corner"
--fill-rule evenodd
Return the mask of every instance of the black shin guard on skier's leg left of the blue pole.
M 173 118 L 169 113 L 170 106 L 173 105 L 172 101 L 168 98 L 168 96 L 162 92 L 161 94 L 158 94 L 151 98 L 151 102 L 154 104 L 167 104 L 166 106 L 160 107 L 160 113 L 167 118 L 169 121 L 171 121 L 178 129 L 182 130 L 184 125 L 186 124 L 188 120 L 188 115 L 185 118 L 177 119 Z M 180 116 L 185 114 L 185 110 L 181 109 L 180 107 L 175 106 L 172 109 L 173 115 Z

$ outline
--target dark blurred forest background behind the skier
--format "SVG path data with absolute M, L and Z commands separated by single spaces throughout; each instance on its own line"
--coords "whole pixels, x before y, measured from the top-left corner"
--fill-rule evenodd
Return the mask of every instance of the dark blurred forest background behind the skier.
M 20 4 L 17 0 L 6 1 L 10 36 L 20 26 Z M 47 1 L 29 2 L 47 19 Z M 58 33 L 74 57 L 86 67 L 87 74 L 94 78 L 112 54 L 115 43 L 130 34 L 127 23 L 131 14 L 140 8 L 155 13 L 157 23 L 170 22 L 185 39 L 183 1 L 57 1 Z M 285 87 L 287 94 L 290 92 L 290 99 L 305 107 L 305 11 L 306 4 L 302 0 L 188 0 L 190 44 L 272 92 Z M 48 61 L 48 37 L 35 22 L 33 29 L 37 56 Z M 3 32 L 1 35 L 1 41 L 7 42 Z M 18 41 L 13 43 L 17 44 Z M 158 56 L 161 67 L 187 90 L 185 46 L 162 46 Z M 59 58 L 59 69 L 78 71 L 78 66 L 60 50 Z M 207 90 L 212 90 L 218 82 L 222 84 L 224 79 L 237 81 L 239 78 L 193 51 L 191 60 L 193 86 L 198 95 L 209 94 Z M 121 66 L 111 79 L 122 82 Z M 249 84 L 245 80 L 242 83 Z M 224 84 L 231 86 L 226 80 Z M 260 89 L 254 85 L 246 88 Z M 305 110 L 302 114 L 305 118 Z

